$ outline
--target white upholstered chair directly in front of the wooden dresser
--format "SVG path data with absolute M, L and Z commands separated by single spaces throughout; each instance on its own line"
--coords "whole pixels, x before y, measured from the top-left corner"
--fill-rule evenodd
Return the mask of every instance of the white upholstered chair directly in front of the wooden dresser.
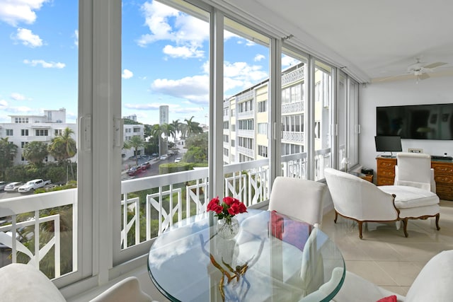
M 431 156 L 425 153 L 400 152 L 396 154 L 394 185 L 418 187 L 436 192 Z

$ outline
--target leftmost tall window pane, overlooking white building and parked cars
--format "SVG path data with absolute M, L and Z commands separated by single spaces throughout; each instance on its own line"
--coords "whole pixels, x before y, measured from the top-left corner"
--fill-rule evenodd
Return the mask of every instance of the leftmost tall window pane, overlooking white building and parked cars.
M 78 1 L 1 6 L 0 267 L 79 274 Z

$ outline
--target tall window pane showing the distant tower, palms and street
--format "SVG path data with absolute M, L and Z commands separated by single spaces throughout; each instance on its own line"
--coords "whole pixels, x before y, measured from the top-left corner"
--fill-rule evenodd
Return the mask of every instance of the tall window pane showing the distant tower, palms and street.
M 122 0 L 121 115 L 138 131 L 122 136 L 118 262 L 208 199 L 210 13 L 179 4 Z

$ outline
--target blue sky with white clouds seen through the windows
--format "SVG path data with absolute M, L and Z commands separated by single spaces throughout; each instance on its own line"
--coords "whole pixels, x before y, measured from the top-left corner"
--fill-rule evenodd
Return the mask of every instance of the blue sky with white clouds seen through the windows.
M 77 116 L 78 1 L 0 0 L 0 122 L 66 108 Z M 209 25 L 156 1 L 122 1 L 122 116 L 159 122 L 208 109 Z M 225 33 L 225 95 L 268 78 L 268 48 Z

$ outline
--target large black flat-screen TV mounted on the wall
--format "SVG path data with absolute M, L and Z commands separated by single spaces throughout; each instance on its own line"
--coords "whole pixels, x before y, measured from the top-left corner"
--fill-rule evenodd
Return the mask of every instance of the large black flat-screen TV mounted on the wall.
M 453 139 L 453 103 L 377 107 L 376 135 Z

